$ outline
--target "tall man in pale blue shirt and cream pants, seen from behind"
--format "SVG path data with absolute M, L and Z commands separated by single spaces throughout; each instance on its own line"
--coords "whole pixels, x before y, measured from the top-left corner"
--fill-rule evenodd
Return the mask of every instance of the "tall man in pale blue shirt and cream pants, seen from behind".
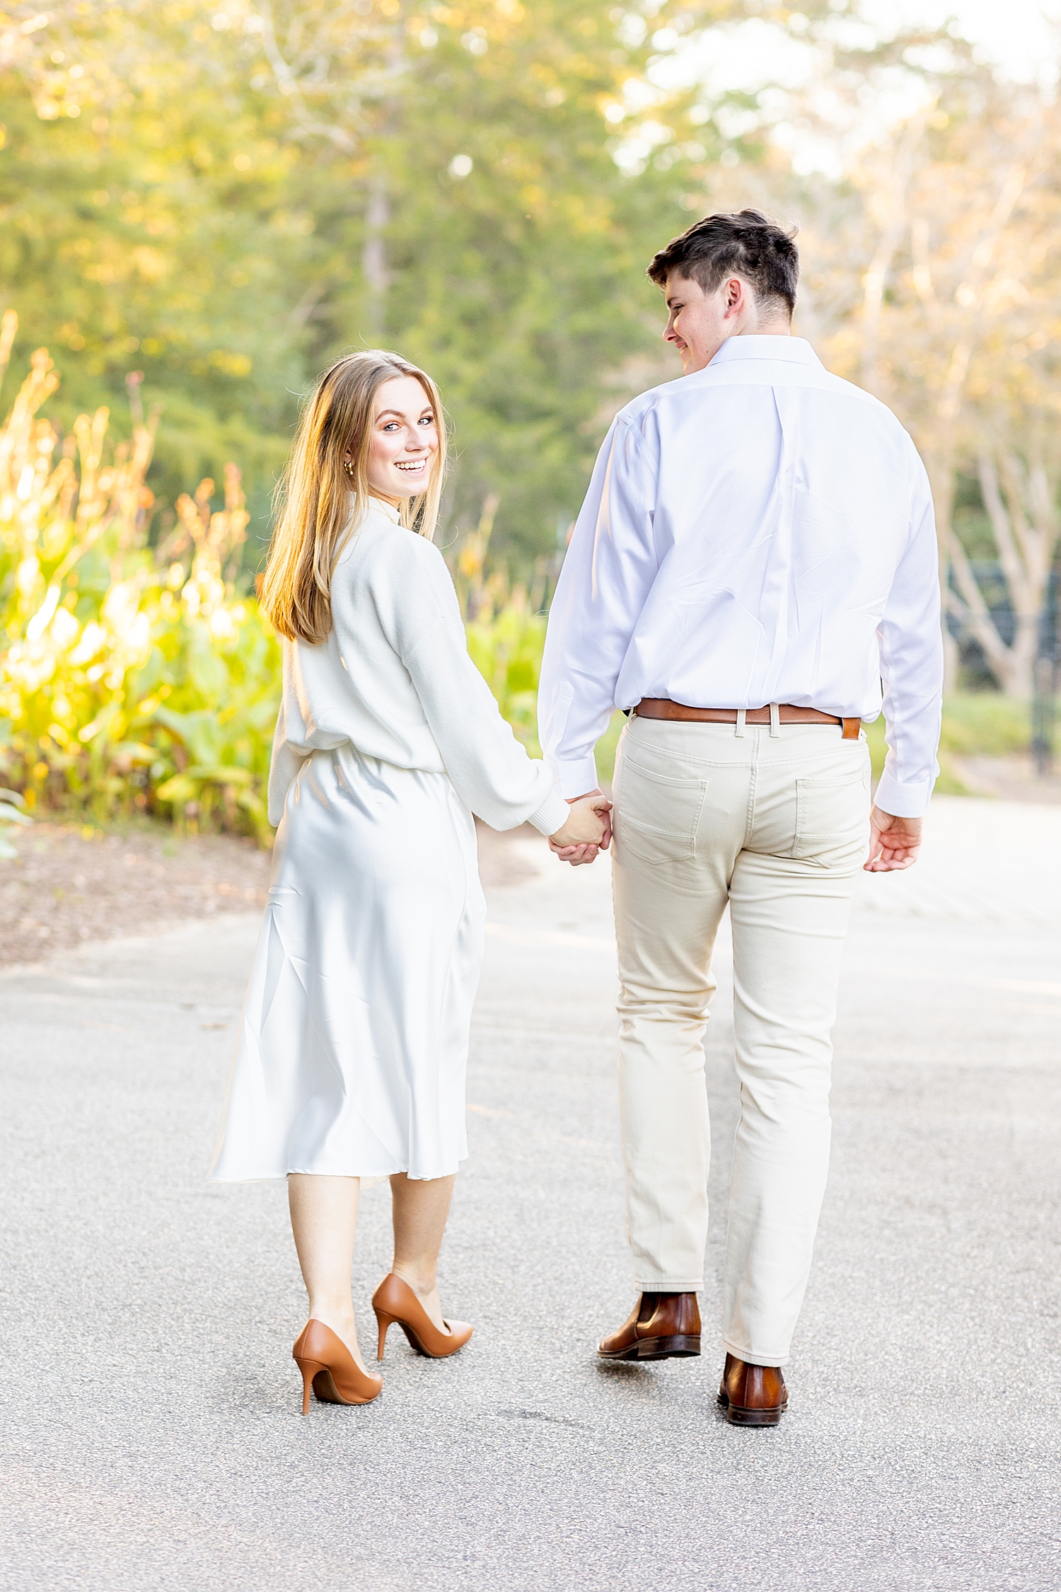
M 598 1352 L 700 1353 L 703 1033 L 729 903 L 741 1116 L 719 1403 L 756 1426 L 787 1401 L 854 879 L 918 855 L 942 693 L 924 466 L 881 403 L 791 334 L 797 275 L 792 239 L 757 210 L 706 217 L 652 259 L 686 374 L 627 404 L 604 439 L 539 693 L 541 743 L 569 799 L 597 790 L 612 710 L 630 715 L 612 877 L 639 1299 Z M 881 702 L 888 759 L 870 812 L 861 720 Z

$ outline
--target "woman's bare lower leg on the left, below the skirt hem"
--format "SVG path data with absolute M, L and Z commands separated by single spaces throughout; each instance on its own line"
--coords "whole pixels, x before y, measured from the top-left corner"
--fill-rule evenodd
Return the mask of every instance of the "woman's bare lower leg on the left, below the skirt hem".
M 339 1334 L 364 1371 L 350 1288 L 359 1192 L 359 1178 L 317 1176 L 309 1172 L 293 1172 L 288 1176 L 291 1232 L 310 1296 L 309 1313 Z

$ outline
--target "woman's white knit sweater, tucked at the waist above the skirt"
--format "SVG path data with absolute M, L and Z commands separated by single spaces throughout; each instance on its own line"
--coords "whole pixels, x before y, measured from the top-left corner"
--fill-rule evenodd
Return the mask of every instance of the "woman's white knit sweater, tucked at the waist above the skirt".
M 272 743 L 269 821 L 280 823 L 299 767 L 352 742 L 399 769 L 449 774 L 495 829 L 530 820 L 554 834 L 568 804 L 528 758 L 471 657 L 442 554 L 371 498 L 331 583 L 326 642 L 283 643 L 283 700 Z

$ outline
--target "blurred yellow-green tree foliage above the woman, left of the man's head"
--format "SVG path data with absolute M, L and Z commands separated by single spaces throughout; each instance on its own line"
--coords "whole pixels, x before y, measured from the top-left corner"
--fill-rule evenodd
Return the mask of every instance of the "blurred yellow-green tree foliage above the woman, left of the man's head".
M 156 495 L 239 458 L 258 564 L 299 395 L 344 349 L 396 347 L 452 414 L 450 524 L 496 494 L 495 554 L 527 567 L 577 509 L 614 409 L 673 374 L 643 267 L 703 207 L 722 145 L 713 108 L 654 86 L 652 64 L 746 10 L 3 5 L 14 363 L 62 357 L 64 423 L 143 371 Z

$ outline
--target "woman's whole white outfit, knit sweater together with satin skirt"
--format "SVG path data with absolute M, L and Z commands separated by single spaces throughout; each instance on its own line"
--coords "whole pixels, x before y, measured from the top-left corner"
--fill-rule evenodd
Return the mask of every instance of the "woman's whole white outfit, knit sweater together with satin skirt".
M 544 834 L 568 814 L 468 657 L 441 554 L 380 506 L 332 619 L 321 646 L 285 646 L 280 826 L 216 1181 L 457 1172 L 485 920 L 472 812 Z

